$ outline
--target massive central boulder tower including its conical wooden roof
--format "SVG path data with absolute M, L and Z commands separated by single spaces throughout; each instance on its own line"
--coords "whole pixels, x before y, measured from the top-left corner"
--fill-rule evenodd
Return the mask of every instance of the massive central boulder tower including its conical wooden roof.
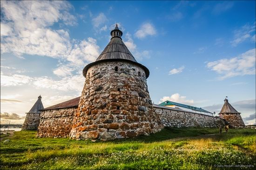
M 119 139 L 148 135 L 163 127 L 149 97 L 149 70 L 123 43 L 118 26 L 95 62 L 86 65 L 86 78 L 71 138 Z

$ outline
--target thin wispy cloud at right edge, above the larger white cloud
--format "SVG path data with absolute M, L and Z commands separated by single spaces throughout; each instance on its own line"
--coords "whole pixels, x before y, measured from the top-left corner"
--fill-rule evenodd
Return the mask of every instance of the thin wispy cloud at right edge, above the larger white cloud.
M 237 46 L 244 41 L 255 43 L 255 22 L 252 25 L 246 24 L 234 31 L 234 39 L 230 41 L 232 46 Z

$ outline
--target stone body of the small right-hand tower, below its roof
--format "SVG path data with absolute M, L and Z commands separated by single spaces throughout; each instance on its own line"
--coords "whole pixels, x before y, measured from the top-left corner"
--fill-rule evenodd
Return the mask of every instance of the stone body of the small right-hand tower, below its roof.
M 223 113 L 220 117 L 227 120 L 230 128 L 244 128 L 243 118 L 239 113 Z

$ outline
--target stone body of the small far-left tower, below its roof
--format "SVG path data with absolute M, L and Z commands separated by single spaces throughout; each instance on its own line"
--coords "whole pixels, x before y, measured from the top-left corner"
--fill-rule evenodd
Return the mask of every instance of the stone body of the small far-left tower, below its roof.
M 40 113 L 27 113 L 21 130 L 36 130 L 40 122 Z

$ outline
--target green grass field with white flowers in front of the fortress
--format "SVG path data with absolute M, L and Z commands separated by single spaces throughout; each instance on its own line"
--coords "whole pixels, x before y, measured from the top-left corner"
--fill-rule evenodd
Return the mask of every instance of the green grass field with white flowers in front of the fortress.
M 256 169 L 255 129 L 218 134 L 217 128 L 165 128 L 108 142 L 35 135 L 17 131 L 5 137 L 11 141 L 1 142 L 0 169 Z

